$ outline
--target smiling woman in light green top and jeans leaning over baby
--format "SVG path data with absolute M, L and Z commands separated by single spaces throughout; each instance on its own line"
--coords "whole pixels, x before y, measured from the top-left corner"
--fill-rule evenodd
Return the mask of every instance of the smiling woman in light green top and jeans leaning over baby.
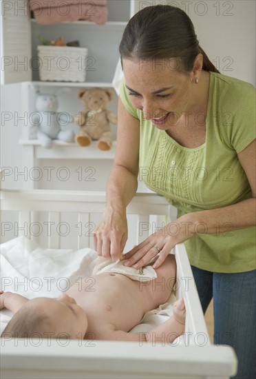
M 253 85 L 220 74 L 189 17 L 172 6 L 135 14 L 120 55 L 118 143 L 97 252 L 115 260 L 125 247 L 140 172 L 178 219 L 125 258 L 140 268 L 158 255 L 157 268 L 184 242 L 204 312 L 214 300 L 215 343 L 234 347 L 236 378 L 255 378 Z

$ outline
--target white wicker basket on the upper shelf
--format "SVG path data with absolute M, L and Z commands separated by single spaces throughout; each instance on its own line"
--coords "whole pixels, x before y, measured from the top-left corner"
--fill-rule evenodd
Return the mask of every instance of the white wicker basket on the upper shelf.
M 86 48 L 37 46 L 41 81 L 85 81 Z

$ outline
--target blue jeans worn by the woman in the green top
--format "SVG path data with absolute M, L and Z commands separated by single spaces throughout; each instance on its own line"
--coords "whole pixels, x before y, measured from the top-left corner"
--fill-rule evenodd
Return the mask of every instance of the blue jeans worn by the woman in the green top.
M 256 270 L 220 274 L 191 267 L 205 313 L 213 298 L 214 344 L 230 345 L 238 360 L 235 379 L 256 378 Z

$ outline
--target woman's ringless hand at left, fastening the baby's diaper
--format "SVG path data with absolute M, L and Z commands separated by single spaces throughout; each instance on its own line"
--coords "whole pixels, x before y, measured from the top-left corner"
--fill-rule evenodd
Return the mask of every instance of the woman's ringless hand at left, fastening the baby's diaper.
M 103 219 L 94 231 L 94 249 L 98 256 L 113 261 L 122 259 L 127 236 L 126 213 L 105 208 Z

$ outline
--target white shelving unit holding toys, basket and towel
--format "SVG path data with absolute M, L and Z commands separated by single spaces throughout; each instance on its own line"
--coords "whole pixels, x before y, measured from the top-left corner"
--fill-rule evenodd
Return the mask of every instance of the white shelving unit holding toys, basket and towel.
M 117 5 L 118 2 L 118 5 Z M 28 1 L 23 1 L 23 5 Z M 138 10 L 138 0 L 108 0 L 107 8 L 109 17 L 104 25 L 88 21 L 63 22 L 53 25 L 41 25 L 35 19 L 30 19 L 30 12 L 17 6 L 17 1 L 2 0 L 1 12 L 1 56 L 9 57 L 5 61 L 4 70 L 1 70 L 1 83 L 20 83 L 21 108 L 23 114 L 28 117 L 28 123 L 22 128 L 22 136 L 19 143 L 22 146 L 23 167 L 39 165 L 41 159 L 61 159 L 96 161 L 109 161 L 111 165 L 116 150 L 116 125 L 111 125 L 113 147 L 107 152 L 102 152 L 92 143 L 89 147 L 81 147 L 76 143 L 61 143 L 54 141 L 51 149 L 44 149 L 39 141 L 29 139 L 30 115 L 36 112 L 35 88 L 41 93 L 54 93 L 58 88 L 68 88 L 69 93 L 58 96 L 58 112 L 68 112 L 74 116 L 83 110 L 83 104 L 79 101 L 77 93 L 79 88 L 112 88 L 112 80 L 118 63 L 118 45 L 122 32 L 129 18 Z M 45 39 L 57 39 L 63 37 L 63 41 L 78 40 L 81 47 L 88 49 L 87 69 L 85 83 L 76 82 L 50 82 L 39 80 L 39 70 L 35 66 L 37 57 L 36 47 L 39 45 L 38 36 Z M 24 62 L 24 64 L 19 64 Z M 111 101 L 108 109 L 117 112 L 118 99 Z M 74 132 L 78 132 L 78 126 L 71 124 Z M 110 167 L 109 167 L 110 170 Z M 102 183 L 105 185 L 105 183 Z M 34 188 L 34 181 L 25 181 L 25 189 Z M 101 188 L 98 188 L 101 189 Z

